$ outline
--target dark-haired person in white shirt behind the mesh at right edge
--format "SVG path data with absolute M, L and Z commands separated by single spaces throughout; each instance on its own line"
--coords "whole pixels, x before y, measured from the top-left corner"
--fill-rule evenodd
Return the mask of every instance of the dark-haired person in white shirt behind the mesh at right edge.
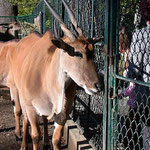
M 142 83 L 150 83 L 150 0 L 142 0 L 140 14 L 146 27 L 135 30 L 129 50 L 127 76 Z M 127 93 L 129 92 L 130 93 Z M 133 84 L 122 94 L 128 94 L 130 106 L 126 120 L 124 147 L 129 150 L 150 150 L 150 88 Z M 127 95 L 126 95 L 127 96 Z

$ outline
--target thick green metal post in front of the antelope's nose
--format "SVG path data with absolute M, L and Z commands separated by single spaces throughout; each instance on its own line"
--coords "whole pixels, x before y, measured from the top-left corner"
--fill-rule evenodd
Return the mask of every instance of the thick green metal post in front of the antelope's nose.
M 113 76 L 114 51 L 116 47 L 116 6 L 116 0 L 105 1 L 105 74 L 107 74 L 105 77 L 105 88 L 107 92 L 105 92 L 104 101 L 103 140 L 105 143 L 107 141 L 107 146 L 104 145 L 103 149 L 107 150 L 113 150 L 113 124 L 114 119 L 117 119 L 117 117 L 114 116 L 112 109 L 113 106 L 116 106 L 116 82 Z

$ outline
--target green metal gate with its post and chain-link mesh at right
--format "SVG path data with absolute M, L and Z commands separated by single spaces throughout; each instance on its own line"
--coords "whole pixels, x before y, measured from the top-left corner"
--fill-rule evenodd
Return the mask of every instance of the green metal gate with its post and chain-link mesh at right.
M 109 64 L 107 149 L 148 150 L 150 84 L 149 72 L 147 73 L 145 68 L 149 65 L 147 45 L 150 33 L 145 29 L 140 30 L 146 25 L 139 15 L 139 0 L 107 2 L 108 14 L 105 20 L 106 22 L 108 20 L 105 26 L 108 27 L 105 30 L 105 50 Z M 142 68 L 141 64 L 144 64 Z

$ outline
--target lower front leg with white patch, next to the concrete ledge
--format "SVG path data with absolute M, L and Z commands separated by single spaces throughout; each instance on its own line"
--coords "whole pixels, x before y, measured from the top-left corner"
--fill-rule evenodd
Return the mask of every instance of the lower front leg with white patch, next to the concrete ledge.
M 60 150 L 63 125 L 59 125 L 55 122 L 54 126 L 55 129 L 52 137 L 52 143 L 53 143 L 54 150 Z

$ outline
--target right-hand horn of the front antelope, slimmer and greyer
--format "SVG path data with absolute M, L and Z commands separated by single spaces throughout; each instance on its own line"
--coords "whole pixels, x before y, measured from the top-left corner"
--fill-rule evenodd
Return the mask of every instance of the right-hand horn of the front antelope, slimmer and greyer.
M 68 17 L 69 17 L 71 23 L 74 25 L 75 30 L 77 31 L 79 36 L 82 36 L 83 35 L 82 34 L 82 30 L 79 28 L 73 12 L 71 11 L 71 9 L 68 7 L 67 3 L 64 0 L 62 0 L 62 3 L 64 4 L 64 6 L 65 6 L 65 8 L 66 8 L 66 10 L 68 12 Z

